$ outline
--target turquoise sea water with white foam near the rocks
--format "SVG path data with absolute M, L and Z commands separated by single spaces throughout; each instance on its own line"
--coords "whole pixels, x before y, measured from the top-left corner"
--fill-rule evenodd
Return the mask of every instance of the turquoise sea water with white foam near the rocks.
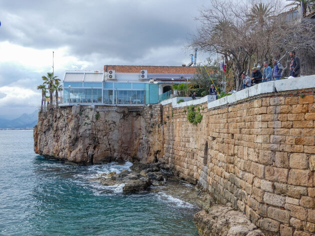
M 88 181 L 130 165 L 45 159 L 33 152 L 31 130 L 0 130 L 0 235 L 197 235 L 188 203 Z

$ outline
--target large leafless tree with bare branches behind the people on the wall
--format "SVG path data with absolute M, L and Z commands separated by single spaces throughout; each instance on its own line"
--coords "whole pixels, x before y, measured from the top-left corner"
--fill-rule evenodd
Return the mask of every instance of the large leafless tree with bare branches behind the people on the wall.
M 253 64 L 278 57 L 285 66 L 290 50 L 305 54 L 310 61 L 314 59 L 315 24 L 307 20 L 288 20 L 282 1 L 210 2 L 211 6 L 200 9 L 197 20 L 201 26 L 190 45 L 223 55 L 233 71 L 236 90 L 241 87 L 241 73 L 248 74 Z M 301 58 L 301 54 L 299 56 Z

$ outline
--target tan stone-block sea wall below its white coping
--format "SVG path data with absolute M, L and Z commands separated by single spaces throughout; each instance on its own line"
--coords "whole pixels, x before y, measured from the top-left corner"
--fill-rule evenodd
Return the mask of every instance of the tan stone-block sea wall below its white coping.
M 267 235 L 314 235 L 313 91 L 199 107 L 203 117 L 193 125 L 185 107 L 163 105 L 161 160 L 219 202 L 231 202 Z

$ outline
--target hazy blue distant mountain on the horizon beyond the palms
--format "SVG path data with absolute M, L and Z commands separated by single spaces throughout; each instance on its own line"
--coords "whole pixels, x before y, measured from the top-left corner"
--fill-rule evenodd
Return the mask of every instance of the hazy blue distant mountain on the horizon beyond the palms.
M 2 119 L 0 118 L 0 128 L 32 128 L 37 123 L 38 110 L 31 114 L 22 114 L 15 119 Z

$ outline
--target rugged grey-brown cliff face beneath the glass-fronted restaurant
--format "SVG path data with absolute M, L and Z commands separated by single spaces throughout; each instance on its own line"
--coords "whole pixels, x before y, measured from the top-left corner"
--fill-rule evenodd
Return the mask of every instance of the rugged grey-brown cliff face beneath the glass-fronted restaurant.
M 154 162 L 162 152 L 160 110 L 155 105 L 133 111 L 112 106 L 44 111 L 34 127 L 34 150 L 84 164 L 126 159 Z

